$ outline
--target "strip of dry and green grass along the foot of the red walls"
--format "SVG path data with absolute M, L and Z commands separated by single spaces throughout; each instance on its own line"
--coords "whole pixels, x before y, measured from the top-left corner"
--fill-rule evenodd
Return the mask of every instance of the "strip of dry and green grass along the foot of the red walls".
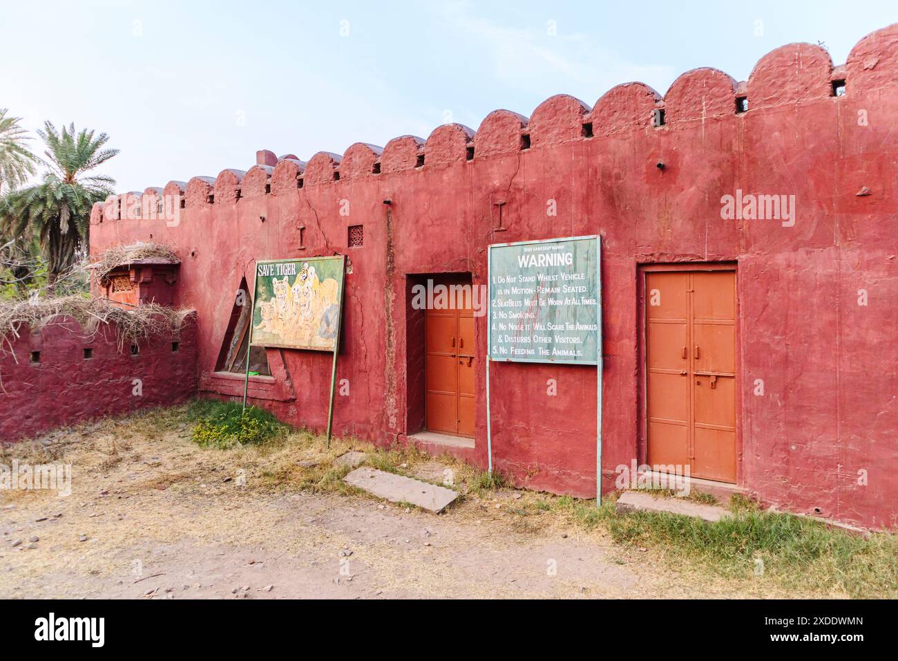
M 208 410 L 203 406 L 208 405 L 78 425 L 48 434 L 43 442 L 7 449 L 5 461 L 14 454 L 32 463 L 72 463 L 79 493 L 109 491 L 98 524 L 103 535 L 123 544 L 128 531 L 117 527 L 117 516 L 132 526 L 139 523 L 146 535 L 166 539 L 262 541 L 278 535 L 277 509 L 258 515 L 260 508 L 269 512 L 272 495 L 356 496 L 380 502 L 342 481 L 349 469 L 337 458 L 362 451 L 364 465 L 434 484 L 444 484 L 440 467 L 450 469 L 451 487 L 461 496 L 445 516 L 476 526 L 485 538 L 511 534 L 528 543 L 570 536 L 612 553 L 620 564 L 657 565 L 672 580 L 705 574 L 714 585 L 744 586 L 746 595 L 898 596 L 894 534 L 862 540 L 789 514 L 762 512 L 747 502 L 735 503 L 735 517 L 719 523 L 665 514 L 618 515 L 615 496 L 603 498 L 597 508 L 594 500 L 506 487 L 498 474 L 489 476 L 449 457 L 433 458 L 400 446 L 375 448 L 355 438 L 334 439 L 329 447 L 319 434 L 286 427 L 257 445 L 200 447 L 192 436 Z M 198 504 L 201 518 L 191 514 Z M 254 514 L 233 515 L 242 510 Z M 291 546 L 303 543 L 289 541 Z

